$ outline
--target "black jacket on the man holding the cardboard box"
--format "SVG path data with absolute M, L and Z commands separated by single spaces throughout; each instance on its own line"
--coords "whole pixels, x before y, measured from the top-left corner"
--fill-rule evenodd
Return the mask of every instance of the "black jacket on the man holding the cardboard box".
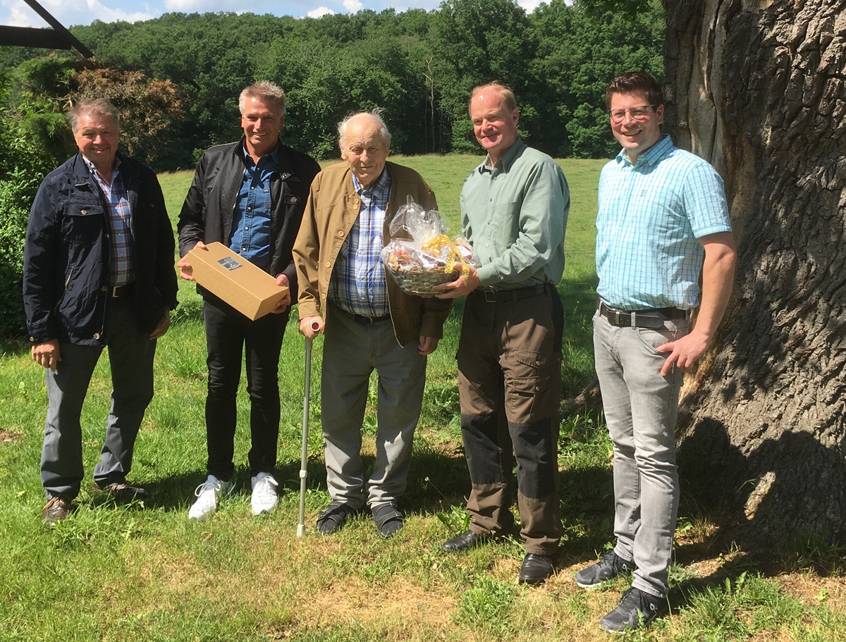
M 244 139 L 211 147 L 200 159 L 194 181 L 179 212 L 179 254 L 186 255 L 197 241 L 229 244 L 235 200 L 244 178 Z M 300 151 L 279 143 L 279 163 L 271 177 L 270 261 L 265 267 L 273 277 L 288 277 L 292 303 L 296 303 L 297 273 L 294 239 L 303 220 L 311 180 L 320 165 Z M 203 294 L 199 286 L 197 290 Z

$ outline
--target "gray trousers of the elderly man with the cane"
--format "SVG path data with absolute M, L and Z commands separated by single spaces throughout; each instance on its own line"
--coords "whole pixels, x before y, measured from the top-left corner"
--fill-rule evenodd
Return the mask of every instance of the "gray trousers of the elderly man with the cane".
M 327 316 L 321 374 L 321 423 L 326 477 L 332 500 L 365 504 L 361 424 L 368 383 L 375 369 L 376 463 L 367 480 L 371 508 L 396 502 L 405 491 L 411 446 L 420 419 L 426 357 L 416 342 L 400 347 L 390 320 L 362 326 L 335 306 Z

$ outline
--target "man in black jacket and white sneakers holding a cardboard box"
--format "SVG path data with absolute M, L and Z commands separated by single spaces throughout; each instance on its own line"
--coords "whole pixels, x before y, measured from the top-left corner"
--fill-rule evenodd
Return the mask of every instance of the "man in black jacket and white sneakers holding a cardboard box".
M 320 166 L 279 141 L 285 94 L 277 85 L 250 85 L 239 96 L 239 109 L 244 137 L 203 154 L 185 197 L 178 225 L 183 256 L 179 274 L 192 280 L 185 255 L 217 241 L 276 277 L 278 285 L 288 286 L 288 293 L 296 293 L 291 249 Z M 197 291 L 203 297 L 208 347 L 208 477 L 197 487 L 188 516 L 208 518 L 217 510 L 221 494 L 232 490 L 235 398 L 244 349 L 250 394 L 251 503 L 253 514 L 266 513 L 277 502 L 279 352 L 294 302 L 288 294 L 275 314 L 250 321 L 199 285 Z

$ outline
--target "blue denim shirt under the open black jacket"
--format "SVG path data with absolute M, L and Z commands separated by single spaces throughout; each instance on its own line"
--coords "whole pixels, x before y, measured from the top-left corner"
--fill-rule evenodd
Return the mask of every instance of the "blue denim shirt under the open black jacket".
M 270 258 L 271 193 L 270 178 L 279 164 L 279 145 L 270 154 L 253 162 L 246 148 L 244 178 L 232 214 L 229 249 L 255 266 L 264 267 Z

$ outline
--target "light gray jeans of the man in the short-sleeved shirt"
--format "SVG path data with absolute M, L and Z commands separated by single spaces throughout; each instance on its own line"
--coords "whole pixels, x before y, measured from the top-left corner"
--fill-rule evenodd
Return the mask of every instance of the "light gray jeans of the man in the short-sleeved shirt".
M 634 562 L 632 585 L 667 595 L 678 514 L 675 425 L 683 374 L 661 376 L 669 353 L 655 348 L 684 337 L 688 321 L 662 329 L 611 325 L 593 317 L 596 375 L 614 444 L 614 535 L 618 556 Z

